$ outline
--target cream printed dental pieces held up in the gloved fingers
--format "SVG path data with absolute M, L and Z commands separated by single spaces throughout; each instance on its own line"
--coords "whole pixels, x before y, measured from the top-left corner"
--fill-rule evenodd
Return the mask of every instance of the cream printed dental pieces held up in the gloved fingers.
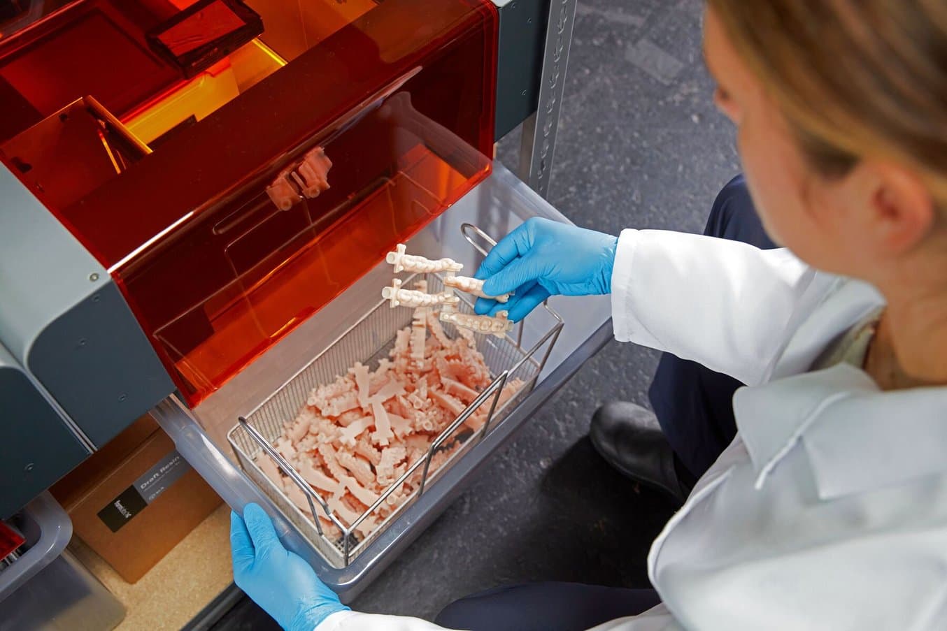
M 502 338 L 513 329 L 507 317 L 507 311 L 497 312 L 495 317 L 470 315 L 456 311 L 456 305 L 460 299 L 454 295 L 454 289 L 459 289 L 465 293 L 470 293 L 480 298 L 489 298 L 500 303 L 506 303 L 509 300 L 509 293 L 502 296 L 490 296 L 483 292 L 483 281 L 471 278 L 470 276 L 457 276 L 456 272 L 463 270 L 464 266 L 457 263 L 453 258 L 441 258 L 438 260 L 425 258 L 415 254 L 406 254 L 406 246 L 399 243 L 393 252 L 389 252 L 384 258 L 385 261 L 394 266 L 395 272 L 444 272 L 444 291 L 440 293 L 427 293 L 427 283 L 420 281 L 417 284 L 418 289 L 402 289 L 402 281 L 395 278 L 391 287 L 382 289 L 382 296 L 385 300 L 391 302 L 391 307 L 441 307 L 440 321 L 454 324 L 464 329 L 469 329 L 477 333 L 491 333 L 496 337 Z M 423 356 L 423 350 L 420 355 Z

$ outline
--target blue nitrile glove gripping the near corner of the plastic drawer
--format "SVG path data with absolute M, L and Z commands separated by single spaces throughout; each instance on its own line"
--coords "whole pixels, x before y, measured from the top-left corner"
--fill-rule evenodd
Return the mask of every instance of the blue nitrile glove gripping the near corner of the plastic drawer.
M 230 549 L 237 587 L 284 629 L 313 631 L 331 614 L 348 610 L 301 556 L 283 548 L 259 505 L 247 504 L 242 518 L 230 514 Z

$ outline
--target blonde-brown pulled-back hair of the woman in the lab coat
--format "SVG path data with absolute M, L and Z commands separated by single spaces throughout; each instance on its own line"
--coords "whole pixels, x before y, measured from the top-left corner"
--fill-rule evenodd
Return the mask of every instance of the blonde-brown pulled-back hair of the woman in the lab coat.
M 816 169 L 891 159 L 947 208 L 947 2 L 707 1 Z

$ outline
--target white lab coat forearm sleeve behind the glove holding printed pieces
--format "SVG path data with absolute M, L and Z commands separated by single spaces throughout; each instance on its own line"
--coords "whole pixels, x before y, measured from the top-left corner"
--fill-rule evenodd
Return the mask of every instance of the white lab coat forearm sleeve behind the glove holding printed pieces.
M 615 337 L 758 385 L 825 298 L 830 284 L 817 276 L 785 249 L 624 230 L 612 273 Z

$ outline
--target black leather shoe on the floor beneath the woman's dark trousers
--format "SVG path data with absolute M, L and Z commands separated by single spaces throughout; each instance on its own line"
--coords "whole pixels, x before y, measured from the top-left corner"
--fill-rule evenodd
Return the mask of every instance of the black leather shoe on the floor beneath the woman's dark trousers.
M 654 412 L 627 401 L 606 403 L 592 415 L 592 445 L 601 457 L 635 482 L 683 504 L 691 486 L 681 482 L 674 451 Z

